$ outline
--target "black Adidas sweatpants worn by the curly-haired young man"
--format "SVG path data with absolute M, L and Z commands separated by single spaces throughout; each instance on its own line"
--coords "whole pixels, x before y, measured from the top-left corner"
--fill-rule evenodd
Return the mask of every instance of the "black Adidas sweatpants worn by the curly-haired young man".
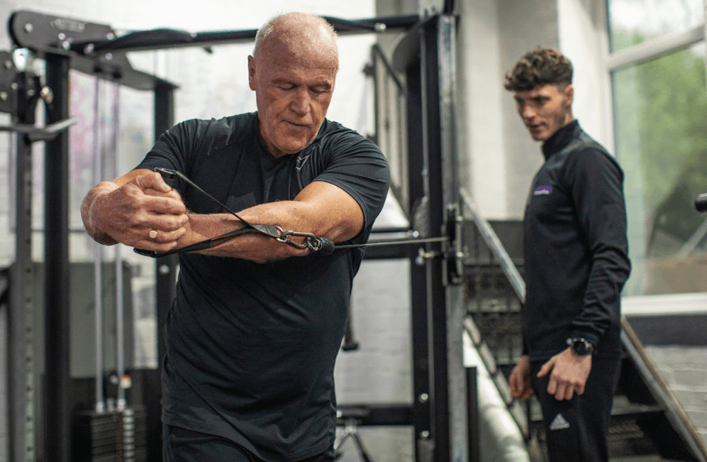
M 621 360 L 592 358 L 584 394 L 569 401 L 547 393 L 550 374 L 537 377 L 544 363 L 530 363 L 530 381 L 542 408 L 550 462 L 607 462 L 606 438 Z

